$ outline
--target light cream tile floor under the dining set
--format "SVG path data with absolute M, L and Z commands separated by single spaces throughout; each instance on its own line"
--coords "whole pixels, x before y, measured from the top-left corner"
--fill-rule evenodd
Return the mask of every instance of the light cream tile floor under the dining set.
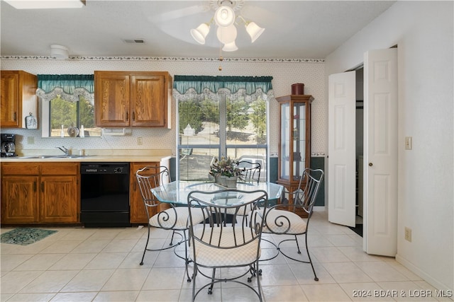
M 38 243 L 0 245 L 1 301 L 190 301 L 192 283 L 172 250 L 147 252 L 139 265 L 146 228 L 50 229 L 58 232 Z M 319 281 L 309 265 L 279 255 L 261 262 L 264 301 L 453 301 L 436 298 L 436 289 L 394 258 L 365 254 L 362 238 L 329 223 L 325 212 L 314 213 L 308 238 Z M 154 246 L 169 240 L 170 232 L 153 229 Z M 262 257 L 273 252 L 264 242 Z M 417 297 L 424 293 L 433 296 Z M 258 297 L 244 286 L 222 283 L 212 295 L 202 291 L 196 301 Z

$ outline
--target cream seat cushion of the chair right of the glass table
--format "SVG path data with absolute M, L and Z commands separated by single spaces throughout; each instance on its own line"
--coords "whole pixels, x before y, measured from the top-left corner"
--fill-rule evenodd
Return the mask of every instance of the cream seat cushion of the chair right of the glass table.
M 299 235 L 306 232 L 306 221 L 292 211 L 271 209 L 265 217 L 263 233 Z

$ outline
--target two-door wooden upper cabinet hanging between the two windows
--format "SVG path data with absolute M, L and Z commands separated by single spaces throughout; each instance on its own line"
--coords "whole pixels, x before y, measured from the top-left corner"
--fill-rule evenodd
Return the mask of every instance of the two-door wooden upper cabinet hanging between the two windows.
M 166 71 L 94 71 L 98 127 L 167 127 L 172 78 Z

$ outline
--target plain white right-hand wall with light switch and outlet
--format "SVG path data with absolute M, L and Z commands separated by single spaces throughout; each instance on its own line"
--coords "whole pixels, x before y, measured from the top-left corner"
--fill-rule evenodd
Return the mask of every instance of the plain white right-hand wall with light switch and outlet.
M 453 1 L 397 1 L 326 58 L 326 81 L 362 64 L 367 50 L 393 45 L 399 60 L 397 260 L 436 288 L 453 290 Z M 404 137 L 413 137 L 411 151 Z

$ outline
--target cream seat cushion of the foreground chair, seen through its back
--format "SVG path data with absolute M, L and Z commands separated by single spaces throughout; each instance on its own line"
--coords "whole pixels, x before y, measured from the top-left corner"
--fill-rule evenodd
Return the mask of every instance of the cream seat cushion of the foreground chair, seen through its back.
M 208 241 L 211 237 L 212 245 L 220 245 L 223 248 L 216 246 L 204 245 L 203 243 L 195 241 L 196 257 L 194 259 L 194 249 L 190 248 L 191 259 L 199 265 L 206 267 L 231 267 L 237 265 L 249 265 L 255 262 L 260 257 L 260 248 L 258 247 L 259 240 L 255 238 L 250 243 L 235 247 L 235 239 L 232 228 L 222 228 L 221 242 L 219 243 L 219 236 L 221 235 L 221 228 L 212 228 L 213 232 L 206 231 L 204 233 L 204 241 Z M 194 229 L 194 236 L 200 238 L 203 229 L 196 227 Z M 246 241 L 250 240 L 252 236 L 246 232 Z M 243 243 L 243 232 L 239 229 L 236 231 L 237 245 Z M 238 239 L 241 238 L 241 239 Z M 258 250 L 259 249 L 259 250 Z

